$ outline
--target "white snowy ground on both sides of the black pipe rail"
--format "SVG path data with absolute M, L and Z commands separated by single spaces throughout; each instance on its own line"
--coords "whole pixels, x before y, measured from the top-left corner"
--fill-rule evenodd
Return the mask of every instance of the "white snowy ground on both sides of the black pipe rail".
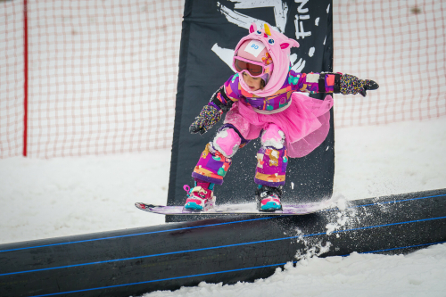
M 444 117 L 338 129 L 335 194 L 352 200 L 446 188 L 445 147 Z M 162 224 L 133 203 L 166 202 L 169 161 L 169 151 L 0 160 L 0 243 Z M 150 296 L 446 296 L 445 275 L 442 244 L 407 256 L 303 260 L 255 284 Z

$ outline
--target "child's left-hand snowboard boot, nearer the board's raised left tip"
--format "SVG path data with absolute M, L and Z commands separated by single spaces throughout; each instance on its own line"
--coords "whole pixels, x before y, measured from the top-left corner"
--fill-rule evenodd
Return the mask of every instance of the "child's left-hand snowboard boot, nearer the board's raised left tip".
M 187 192 L 185 210 L 206 211 L 214 207 L 214 184 L 195 181 L 193 189 L 187 185 L 184 189 Z

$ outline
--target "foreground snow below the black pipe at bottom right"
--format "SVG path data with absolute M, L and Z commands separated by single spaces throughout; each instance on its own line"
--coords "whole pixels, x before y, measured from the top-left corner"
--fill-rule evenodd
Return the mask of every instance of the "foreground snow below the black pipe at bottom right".
M 273 276 L 254 283 L 206 284 L 158 291 L 144 297 L 212 296 L 445 296 L 446 244 L 409 255 L 359 254 L 313 257 L 277 268 Z

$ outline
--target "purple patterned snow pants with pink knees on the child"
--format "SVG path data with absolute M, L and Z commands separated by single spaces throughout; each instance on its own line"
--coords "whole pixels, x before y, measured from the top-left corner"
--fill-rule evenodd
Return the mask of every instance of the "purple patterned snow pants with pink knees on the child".
M 284 186 L 288 157 L 285 134 L 277 125 L 270 124 L 260 136 L 261 147 L 257 153 L 254 181 L 264 186 Z M 214 139 L 206 144 L 192 177 L 221 185 L 232 157 L 248 141 L 232 125 L 224 125 Z

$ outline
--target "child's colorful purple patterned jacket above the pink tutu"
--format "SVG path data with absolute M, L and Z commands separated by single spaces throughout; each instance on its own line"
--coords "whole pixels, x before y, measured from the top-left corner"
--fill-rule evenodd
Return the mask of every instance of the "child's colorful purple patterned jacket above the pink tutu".
M 243 100 L 254 109 L 275 111 L 290 102 L 293 92 L 339 93 L 340 78 L 341 74 L 338 73 L 297 73 L 289 70 L 283 86 L 275 94 L 260 97 L 245 91 L 236 73 L 212 96 L 209 105 L 220 111 L 228 111 L 233 103 Z

